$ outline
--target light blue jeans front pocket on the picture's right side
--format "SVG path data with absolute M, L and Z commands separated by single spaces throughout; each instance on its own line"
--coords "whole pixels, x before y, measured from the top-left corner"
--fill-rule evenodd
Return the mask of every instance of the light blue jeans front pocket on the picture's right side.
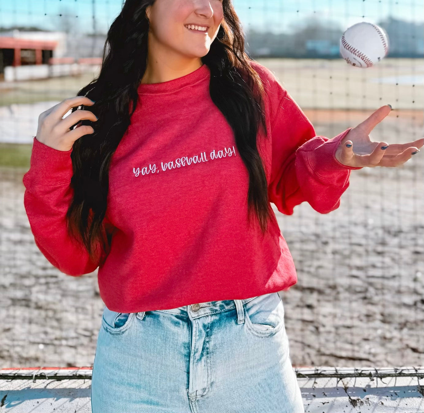
M 259 295 L 243 304 L 247 329 L 259 337 L 271 337 L 284 327 L 284 306 L 278 293 Z

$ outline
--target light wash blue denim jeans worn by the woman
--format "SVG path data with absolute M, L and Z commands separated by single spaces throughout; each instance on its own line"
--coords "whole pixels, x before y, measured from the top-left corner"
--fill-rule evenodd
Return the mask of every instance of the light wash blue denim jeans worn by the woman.
M 91 404 L 93 413 L 304 413 L 279 294 L 105 307 Z

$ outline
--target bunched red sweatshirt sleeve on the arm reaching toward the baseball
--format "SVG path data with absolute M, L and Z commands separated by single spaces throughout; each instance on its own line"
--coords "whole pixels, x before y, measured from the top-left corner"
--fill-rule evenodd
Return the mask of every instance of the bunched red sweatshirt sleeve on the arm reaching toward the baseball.
M 316 136 L 301 108 L 279 83 L 271 94 L 277 103 L 271 119 L 272 162 L 268 197 L 277 209 L 292 215 L 293 208 L 307 201 L 319 213 L 340 206 L 340 197 L 349 186 L 351 169 L 335 157 L 340 141 L 352 128 L 332 139 Z M 272 103 L 271 103 L 272 105 Z

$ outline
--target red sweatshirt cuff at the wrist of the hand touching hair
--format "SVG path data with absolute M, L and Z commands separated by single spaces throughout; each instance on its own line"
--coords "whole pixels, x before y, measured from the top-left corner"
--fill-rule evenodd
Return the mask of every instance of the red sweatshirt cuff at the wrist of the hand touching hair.
M 68 151 L 61 151 L 33 139 L 29 179 L 41 185 L 60 185 L 70 183 L 73 176 L 73 166 Z

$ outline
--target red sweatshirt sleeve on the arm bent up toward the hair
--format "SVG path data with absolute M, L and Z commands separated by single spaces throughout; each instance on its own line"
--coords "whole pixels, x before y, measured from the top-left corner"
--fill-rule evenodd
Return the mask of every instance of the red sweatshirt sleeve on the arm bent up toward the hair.
M 66 213 L 73 197 L 71 152 L 72 149 L 60 151 L 49 147 L 34 136 L 30 169 L 22 182 L 25 211 L 35 244 L 61 272 L 79 276 L 94 271 L 99 263 L 90 261 L 84 245 L 67 231 Z M 105 225 L 110 225 L 106 217 Z M 97 248 L 99 252 L 100 244 Z

